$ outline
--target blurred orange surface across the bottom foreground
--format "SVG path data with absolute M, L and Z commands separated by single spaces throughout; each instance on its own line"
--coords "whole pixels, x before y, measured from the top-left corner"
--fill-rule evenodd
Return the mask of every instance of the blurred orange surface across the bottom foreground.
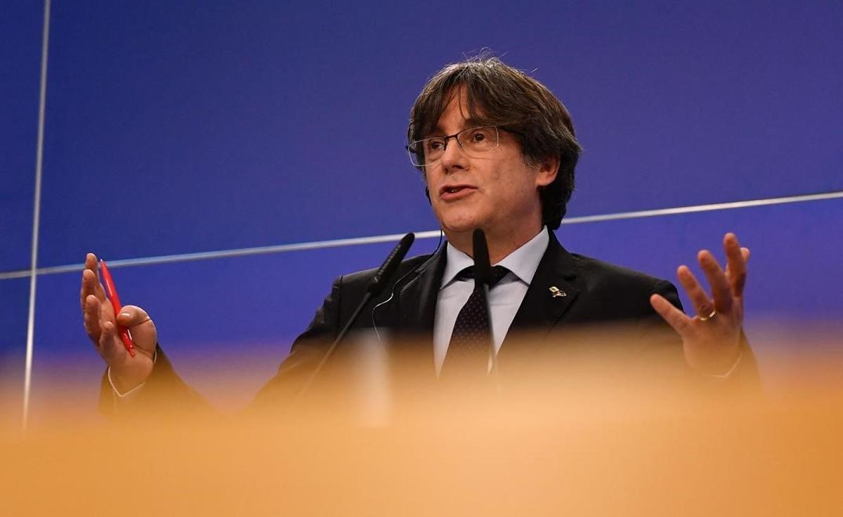
M 6 431 L 0 514 L 843 514 L 840 386 L 566 378 Z

